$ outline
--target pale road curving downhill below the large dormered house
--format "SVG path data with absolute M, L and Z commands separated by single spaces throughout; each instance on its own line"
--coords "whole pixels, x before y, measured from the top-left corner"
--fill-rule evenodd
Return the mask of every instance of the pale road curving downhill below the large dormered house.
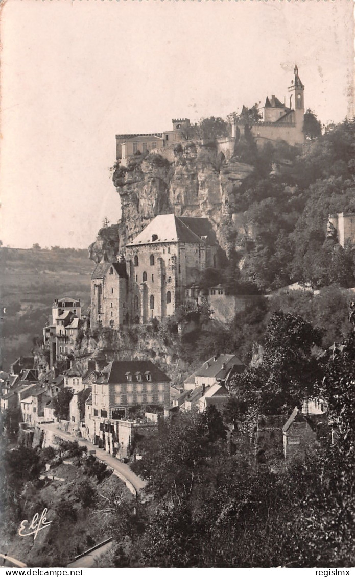
M 125 463 L 121 463 L 118 459 L 115 459 L 112 455 L 109 455 L 103 449 L 99 449 L 96 445 L 90 443 L 86 439 L 79 439 L 78 437 L 73 437 L 73 435 L 66 433 L 62 429 L 59 429 L 55 423 L 47 423 L 39 425 L 43 430 L 50 430 L 53 432 L 57 437 L 61 437 L 62 439 L 66 439 L 67 441 L 78 441 L 79 445 L 84 445 L 88 448 L 88 451 L 95 451 L 96 457 L 106 463 L 109 467 L 114 470 L 114 473 L 117 474 L 117 477 L 121 478 L 122 481 L 128 481 L 128 489 L 130 489 L 129 484 L 133 486 L 136 492 L 143 489 L 145 486 L 145 481 L 140 477 L 137 477 L 136 474 L 130 470 L 129 466 Z M 131 491 L 132 492 L 132 491 Z

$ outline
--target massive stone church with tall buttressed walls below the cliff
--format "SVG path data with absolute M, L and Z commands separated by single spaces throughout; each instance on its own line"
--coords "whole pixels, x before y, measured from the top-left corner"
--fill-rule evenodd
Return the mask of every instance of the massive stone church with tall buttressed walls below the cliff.
M 91 277 L 91 328 L 147 323 L 174 314 L 199 272 L 216 267 L 207 218 L 159 215 L 126 245 L 125 263 L 104 255 Z

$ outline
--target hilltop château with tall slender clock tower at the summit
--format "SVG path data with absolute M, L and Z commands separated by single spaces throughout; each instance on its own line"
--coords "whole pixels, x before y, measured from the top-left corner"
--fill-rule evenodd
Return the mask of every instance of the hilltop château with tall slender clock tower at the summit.
M 290 145 L 304 144 L 305 136 L 303 132 L 304 124 L 304 84 L 298 76 L 298 68 L 295 65 L 293 70 L 294 78 L 291 81 L 289 90 L 289 101 L 279 100 L 275 95 L 271 99 L 266 98 L 263 107 L 259 108 L 262 116 L 260 122 L 248 123 L 251 133 L 258 145 L 268 142 L 286 141 Z M 232 137 L 237 136 L 239 130 L 244 135 L 245 124 L 236 123 L 232 125 Z

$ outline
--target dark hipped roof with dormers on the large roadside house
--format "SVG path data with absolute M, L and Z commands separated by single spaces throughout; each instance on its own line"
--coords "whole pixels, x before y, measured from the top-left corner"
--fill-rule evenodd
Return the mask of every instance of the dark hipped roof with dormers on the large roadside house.
M 132 381 L 138 382 L 136 373 L 150 373 L 151 383 L 162 381 L 169 382 L 169 377 L 158 369 L 151 361 L 111 361 L 103 370 L 103 377 L 99 377 L 96 383 L 126 383 L 127 374 L 132 375 Z

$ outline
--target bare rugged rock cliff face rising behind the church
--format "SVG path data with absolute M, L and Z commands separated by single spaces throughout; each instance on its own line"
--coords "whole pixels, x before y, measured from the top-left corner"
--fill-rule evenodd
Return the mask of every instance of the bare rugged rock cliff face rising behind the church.
M 228 230 L 234 228 L 233 191 L 252 172 L 248 164 L 226 160 L 218 147 L 198 142 L 178 145 L 175 151 L 162 149 L 143 159 L 134 156 L 126 167 L 119 164 L 113 182 L 122 218 L 117 228 L 99 231 L 89 249 L 91 258 L 97 261 L 107 248 L 109 257 L 117 254 L 155 216 L 171 212 L 210 219 L 221 248 L 228 253 Z

